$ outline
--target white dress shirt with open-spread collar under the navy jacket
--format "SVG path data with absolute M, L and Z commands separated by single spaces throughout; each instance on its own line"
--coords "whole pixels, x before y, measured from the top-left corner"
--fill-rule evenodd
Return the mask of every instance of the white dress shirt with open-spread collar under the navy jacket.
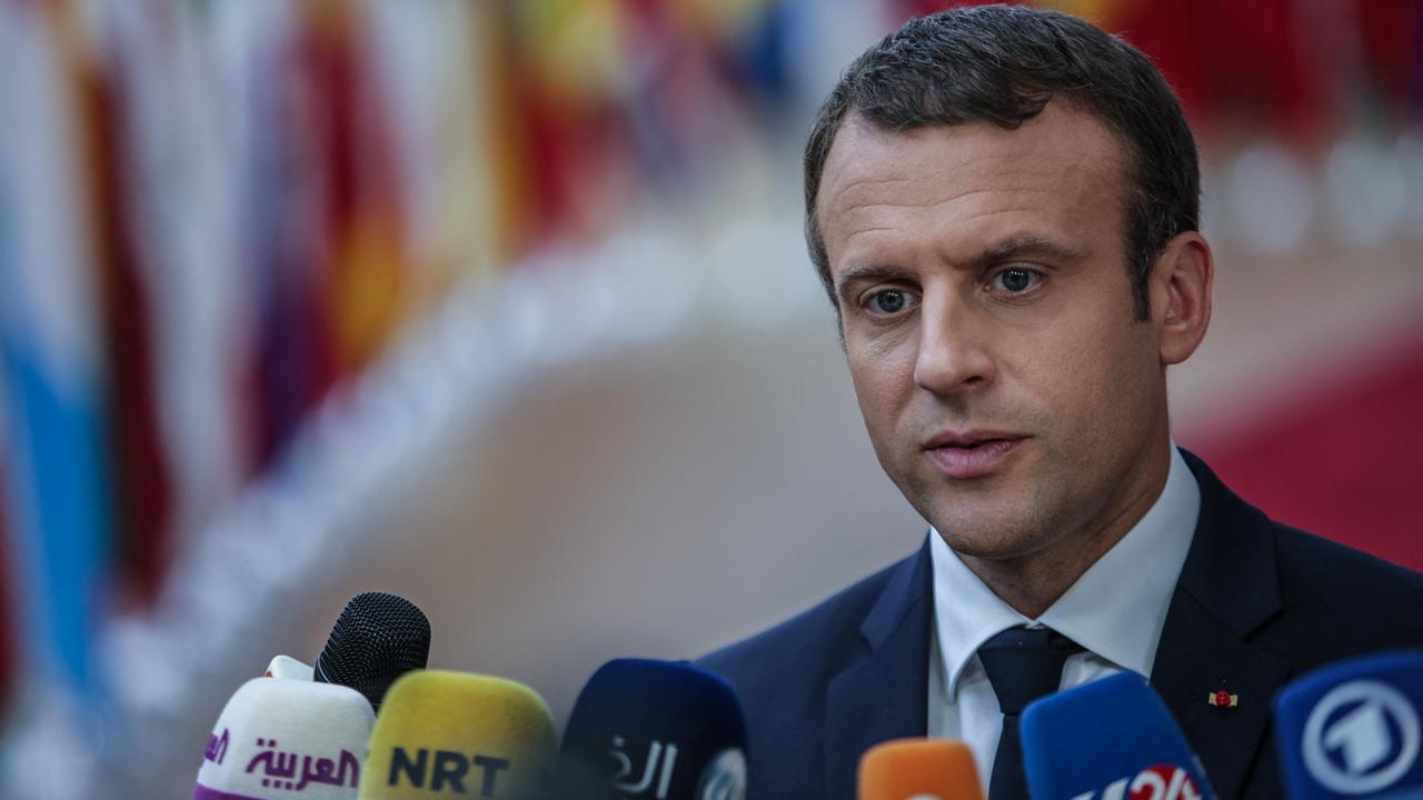
M 1173 444 L 1161 497 L 1037 619 L 999 599 L 931 528 L 935 623 L 929 646 L 929 736 L 968 743 L 985 790 L 993 774 L 1003 715 L 979 662 L 979 646 L 1017 625 L 1047 626 L 1086 649 L 1063 665 L 1060 689 L 1123 669 L 1150 676 L 1200 511 L 1195 475 Z

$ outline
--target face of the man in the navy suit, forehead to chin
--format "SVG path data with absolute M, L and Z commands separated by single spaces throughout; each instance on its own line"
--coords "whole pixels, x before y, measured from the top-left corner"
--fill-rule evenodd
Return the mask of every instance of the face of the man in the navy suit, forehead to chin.
M 1134 319 L 1126 155 L 1050 102 L 992 124 L 851 117 L 817 214 L 879 463 L 962 555 L 1012 559 L 1109 528 L 1164 471 L 1157 326 Z

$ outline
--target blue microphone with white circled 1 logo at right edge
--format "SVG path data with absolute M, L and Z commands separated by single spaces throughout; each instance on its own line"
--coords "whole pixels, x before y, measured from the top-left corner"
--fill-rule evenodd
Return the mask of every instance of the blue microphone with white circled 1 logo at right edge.
M 1423 797 L 1423 651 L 1356 658 L 1291 682 L 1275 699 L 1285 794 Z

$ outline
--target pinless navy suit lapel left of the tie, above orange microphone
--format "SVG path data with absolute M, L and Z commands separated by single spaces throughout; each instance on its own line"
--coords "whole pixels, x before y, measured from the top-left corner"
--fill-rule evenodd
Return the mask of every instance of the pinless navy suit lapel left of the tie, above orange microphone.
M 865 616 L 862 649 L 825 688 L 827 797 L 854 796 L 859 756 L 874 744 L 928 732 L 931 574 L 925 540 Z

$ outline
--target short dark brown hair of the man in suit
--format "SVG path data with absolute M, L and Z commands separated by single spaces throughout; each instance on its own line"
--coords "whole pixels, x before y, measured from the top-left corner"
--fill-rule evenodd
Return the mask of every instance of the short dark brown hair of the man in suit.
M 805 142 L 805 239 L 831 303 L 815 198 L 830 147 L 851 114 L 888 131 L 976 121 L 1013 130 L 1053 97 L 1097 117 L 1126 144 L 1123 251 L 1137 319 L 1150 319 L 1155 258 L 1173 236 L 1200 225 L 1191 128 L 1171 87 L 1140 50 L 1086 20 L 1023 6 L 909 20 L 857 58 L 825 98 Z

